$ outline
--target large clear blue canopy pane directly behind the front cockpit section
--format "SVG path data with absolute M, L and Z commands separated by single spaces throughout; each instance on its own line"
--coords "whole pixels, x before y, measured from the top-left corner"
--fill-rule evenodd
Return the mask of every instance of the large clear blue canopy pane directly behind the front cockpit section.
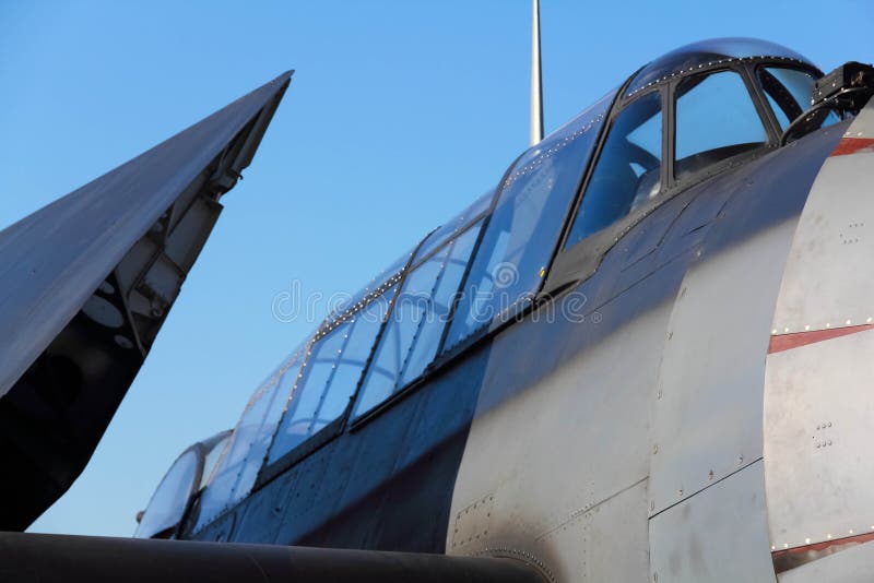
M 513 166 L 473 260 L 447 348 L 540 289 L 614 95 L 546 136 Z

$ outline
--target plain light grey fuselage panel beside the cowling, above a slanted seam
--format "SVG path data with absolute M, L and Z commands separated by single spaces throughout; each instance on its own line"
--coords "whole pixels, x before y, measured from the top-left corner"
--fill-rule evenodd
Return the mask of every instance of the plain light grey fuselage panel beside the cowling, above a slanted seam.
M 686 273 L 651 393 L 651 512 L 761 456 L 761 386 L 780 270 L 795 222 L 784 221 Z

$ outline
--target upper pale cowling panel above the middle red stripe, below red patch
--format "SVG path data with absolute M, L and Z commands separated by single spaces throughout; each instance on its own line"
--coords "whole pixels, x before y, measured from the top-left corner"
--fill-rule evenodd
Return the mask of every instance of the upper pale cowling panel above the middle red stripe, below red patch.
M 870 104 L 847 134 L 874 124 Z M 777 333 L 874 321 L 874 152 L 832 156 L 804 206 L 773 318 Z

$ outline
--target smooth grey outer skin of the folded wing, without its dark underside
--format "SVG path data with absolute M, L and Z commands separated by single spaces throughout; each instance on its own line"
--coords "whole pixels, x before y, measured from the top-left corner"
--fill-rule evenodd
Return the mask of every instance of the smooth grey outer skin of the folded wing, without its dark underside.
M 281 97 L 290 79 L 283 73 L 0 231 L 0 396 L 203 168 Z

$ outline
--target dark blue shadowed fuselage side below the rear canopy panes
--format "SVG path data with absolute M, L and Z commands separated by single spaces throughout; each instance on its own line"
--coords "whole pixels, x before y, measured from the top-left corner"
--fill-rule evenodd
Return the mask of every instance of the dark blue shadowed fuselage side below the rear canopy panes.
M 444 552 L 488 345 L 343 432 L 240 503 L 235 542 Z M 194 536 L 210 539 L 208 526 Z M 187 536 L 191 536 L 187 533 Z

